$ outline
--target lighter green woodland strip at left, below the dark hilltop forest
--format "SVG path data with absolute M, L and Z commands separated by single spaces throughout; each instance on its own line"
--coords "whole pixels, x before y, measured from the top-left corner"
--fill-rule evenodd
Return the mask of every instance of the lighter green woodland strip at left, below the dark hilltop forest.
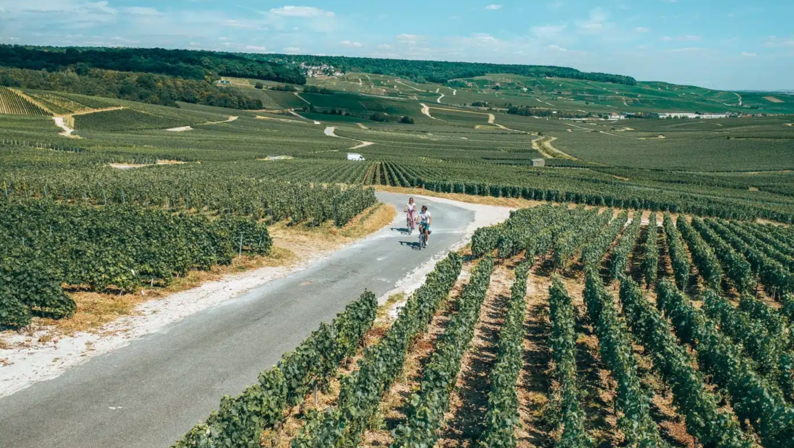
M 161 106 L 177 106 L 176 102 L 183 101 L 231 109 L 262 108 L 260 99 L 222 89 L 205 79 L 98 68 L 87 68 L 79 74 L 71 68 L 50 72 L 0 67 L 0 85 L 120 98 Z

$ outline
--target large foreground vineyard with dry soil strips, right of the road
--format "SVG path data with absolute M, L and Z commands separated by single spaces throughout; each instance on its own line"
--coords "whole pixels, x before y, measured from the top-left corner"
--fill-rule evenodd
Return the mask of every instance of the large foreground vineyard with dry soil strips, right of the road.
M 792 253 L 784 227 L 516 210 L 395 319 L 365 292 L 175 447 L 791 446 Z

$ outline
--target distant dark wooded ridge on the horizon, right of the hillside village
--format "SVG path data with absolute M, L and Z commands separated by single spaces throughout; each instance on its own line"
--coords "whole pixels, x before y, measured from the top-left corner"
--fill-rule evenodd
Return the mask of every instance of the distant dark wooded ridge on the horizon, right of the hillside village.
M 574 68 L 554 67 L 547 65 L 521 65 L 521 64 L 481 64 L 471 62 L 447 62 L 438 60 L 401 60 L 401 59 L 372 59 L 366 57 L 347 56 L 306 56 L 306 55 L 259 55 L 257 58 L 266 57 L 268 60 L 286 62 L 288 64 L 309 65 L 330 64 L 341 71 L 361 71 L 376 73 L 378 75 L 403 76 L 418 83 L 430 81 L 431 83 L 446 83 L 450 79 L 471 78 L 487 73 L 512 73 L 533 78 L 546 76 L 556 78 L 586 79 L 588 81 L 601 81 L 604 83 L 619 83 L 634 86 L 637 80 L 630 76 L 610 75 L 608 73 L 588 73 Z

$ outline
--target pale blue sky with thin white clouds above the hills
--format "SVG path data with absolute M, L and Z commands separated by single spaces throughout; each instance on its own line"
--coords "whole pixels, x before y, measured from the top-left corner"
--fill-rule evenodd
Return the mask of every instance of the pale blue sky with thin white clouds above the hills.
M 791 0 L 0 0 L 0 43 L 553 64 L 794 90 L 792 17 Z

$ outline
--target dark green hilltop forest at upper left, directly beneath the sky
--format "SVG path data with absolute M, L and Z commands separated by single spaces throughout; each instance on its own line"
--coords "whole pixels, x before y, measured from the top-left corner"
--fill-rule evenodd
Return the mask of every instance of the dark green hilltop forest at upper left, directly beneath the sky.
M 0 64 L 5 67 L 61 71 L 74 68 L 84 75 L 88 68 L 139 71 L 186 79 L 237 76 L 280 83 L 305 84 L 306 77 L 293 68 L 251 57 L 194 50 L 163 48 L 57 48 L 0 45 Z

